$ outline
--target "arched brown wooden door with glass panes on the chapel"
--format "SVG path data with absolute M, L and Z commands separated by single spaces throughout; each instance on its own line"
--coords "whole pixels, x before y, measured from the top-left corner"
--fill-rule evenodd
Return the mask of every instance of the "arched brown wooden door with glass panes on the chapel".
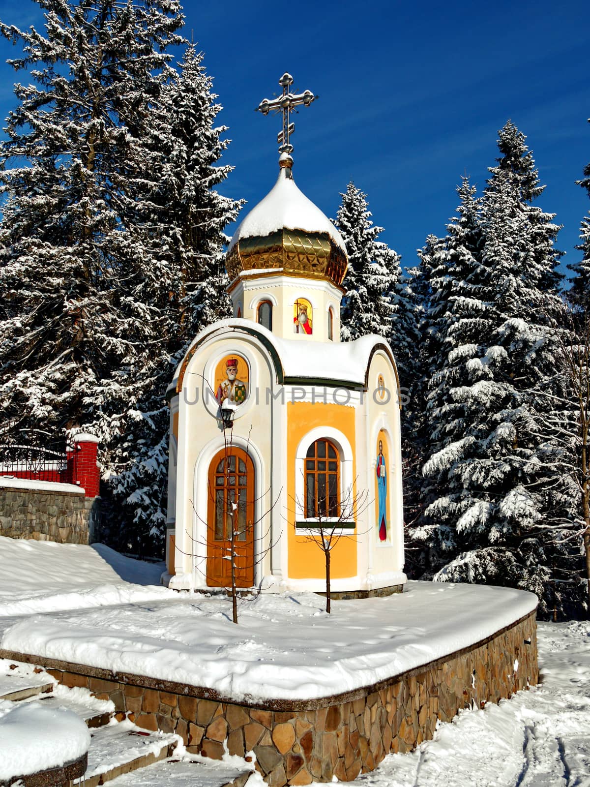
M 208 477 L 207 584 L 231 586 L 231 536 L 234 530 L 236 586 L 254 584 L 254 465 L 239 448 L 213 457 Z

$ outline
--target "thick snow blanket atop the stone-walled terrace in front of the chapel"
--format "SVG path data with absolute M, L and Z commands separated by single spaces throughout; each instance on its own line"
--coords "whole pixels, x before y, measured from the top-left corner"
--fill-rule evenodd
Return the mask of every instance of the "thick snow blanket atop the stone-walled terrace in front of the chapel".
M 50 611 L 51 598 L 0 605 L 0 648 L 112 672 L 206 686 L 235 700 L 330 696 L 390 678 L 513 623 L 537 605 L 518 590 L 410 582 L 403 594 L 338 601 L 314 593 L 260 595 L 231 623 L 227 597 L 134 598 L 106 586 L 106 605 Z M 149 588 L 138 589 L 149 591 Z M 165 591 L 163 591 L 165 593 Z M 125 604 L 125 595 L 133 603 Z M 474 614 L 477 610 L 477 614 Z M 23 613 L 26 613 L 23 615 Z M 33 613 L 33 614 L 31 614 Z

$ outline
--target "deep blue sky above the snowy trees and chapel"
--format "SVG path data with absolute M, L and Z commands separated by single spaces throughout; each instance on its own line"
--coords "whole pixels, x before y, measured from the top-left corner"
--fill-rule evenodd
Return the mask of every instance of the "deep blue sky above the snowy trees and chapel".
M 444 233 L 463 174 L 481 188 L 507 118 L 525 132 L 542 183 L 537 204 L 564 228 L 564 265 L 590 209 L 575 185 L 590 161 L 588 2 L 225 2 L 186 0 L 186 35 L 205 52 L 232 139 L 223 192 L 253 207 L 277 173 L 276 116 L 254 113 L 289 71 L 319 101 L 294 116 L 293 174 L 326 215 L 349 180 L 367 193 L 382 239 L 415 264 Z M 0 18 L 41 19 L 31 0 L 0 0 Z M 0 42 L 0 114 L 13 104 L 14 54 Z M 22 77 L 20 77 L 22 79 Z M 242 213 L 242 216 L 245 215 Z

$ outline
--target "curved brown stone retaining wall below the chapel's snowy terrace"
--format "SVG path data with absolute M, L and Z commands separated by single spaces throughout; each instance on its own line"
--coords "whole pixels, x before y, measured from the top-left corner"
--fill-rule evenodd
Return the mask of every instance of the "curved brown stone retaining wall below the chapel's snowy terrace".
M 0 657 L 48 667 L 68 686 L 83 686 L 147 730 L 176 732 L 190 752 L 220 759 L 256 755 L 272 787 L 351 781 L 389 752 L 408 752 L 433 737 L 437 719 L 498 702 L 535 685 L 535 613 L 492 637 L 387 681 L 321 700 L 238 704 L 211 689 L 110 674 L 83 665 L 0 651 Z

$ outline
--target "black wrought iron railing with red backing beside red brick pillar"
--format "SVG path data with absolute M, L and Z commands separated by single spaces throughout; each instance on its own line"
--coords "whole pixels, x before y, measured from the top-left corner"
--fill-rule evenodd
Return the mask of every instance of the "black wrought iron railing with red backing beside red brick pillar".
M 0 432 L 0 475 L 75 483 L 78 446 L 42 430 Z

